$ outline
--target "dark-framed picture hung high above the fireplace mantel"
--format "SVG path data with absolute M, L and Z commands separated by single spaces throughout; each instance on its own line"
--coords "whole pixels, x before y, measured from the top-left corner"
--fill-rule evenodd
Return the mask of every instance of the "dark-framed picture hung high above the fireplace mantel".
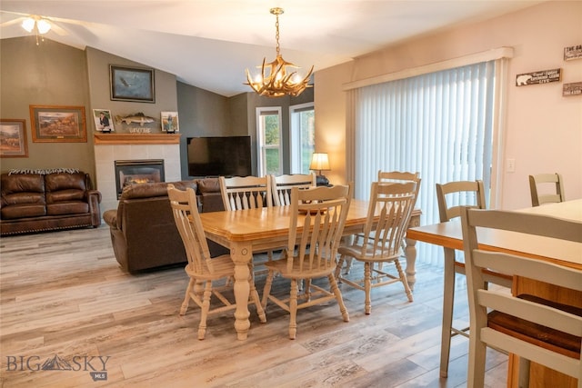
M 155 103 L 154 69 L 109 65 L 111 99 Z

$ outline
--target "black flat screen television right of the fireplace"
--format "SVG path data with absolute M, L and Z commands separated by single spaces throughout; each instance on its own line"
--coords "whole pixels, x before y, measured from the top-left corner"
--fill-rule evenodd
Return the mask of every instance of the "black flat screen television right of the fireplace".
M 188 137 L 188 175 L 252 174 L 251 136 Z

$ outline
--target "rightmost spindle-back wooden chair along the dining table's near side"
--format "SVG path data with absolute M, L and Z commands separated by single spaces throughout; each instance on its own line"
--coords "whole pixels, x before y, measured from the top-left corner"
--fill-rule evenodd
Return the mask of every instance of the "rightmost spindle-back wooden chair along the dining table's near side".
M 342 245 L 337 249 L 339 261 L 336 278 L 365 292 L 364 311 L 372 311 L 371 290 L 387 284 L 400 282 L 404 285 L 406 297 L 413 301 L 406 274 L 402 270 L 399 257 L 403 254 L 402 242 L 415 201 L 416 183 L 380 184 L 372 183 L 363 238 L 354 244 Z M 364 263 L 364 276 L 353 279 L 341 275 L 341 266 L 347 257 Z M 393 263 L 397 276 L 388 273 L 379 264 Z M 376 264 L 376 265 L 375 265 Z

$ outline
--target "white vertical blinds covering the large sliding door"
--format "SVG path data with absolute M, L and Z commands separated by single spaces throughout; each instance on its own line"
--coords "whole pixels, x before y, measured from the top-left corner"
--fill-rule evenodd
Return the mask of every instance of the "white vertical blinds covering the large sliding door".
M 347 160 L 353 163 L 356 198 L 368 199 L 378 170 L 420 173 L 416 205 L 423 212 L 421 224 L 438 222 L 437 183 L 481 179 L 488 197 L 495 67 L 496 61 L 488 61 L 350 90 L 348 139 L 353 147 Z M 466 201 L 453 198 L 456 204 Z M 418 245 L 426 250 L 419 252 L 419 261 L 442 262 L 442 248 Z

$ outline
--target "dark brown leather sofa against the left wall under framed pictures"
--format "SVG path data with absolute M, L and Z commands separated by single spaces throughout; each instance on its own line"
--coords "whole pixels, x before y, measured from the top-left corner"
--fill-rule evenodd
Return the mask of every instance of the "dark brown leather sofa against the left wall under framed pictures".
M 0 177 L 0 234 L 25 234 L 101 224 L 101 193 L 79 171 L 5 173 Z

